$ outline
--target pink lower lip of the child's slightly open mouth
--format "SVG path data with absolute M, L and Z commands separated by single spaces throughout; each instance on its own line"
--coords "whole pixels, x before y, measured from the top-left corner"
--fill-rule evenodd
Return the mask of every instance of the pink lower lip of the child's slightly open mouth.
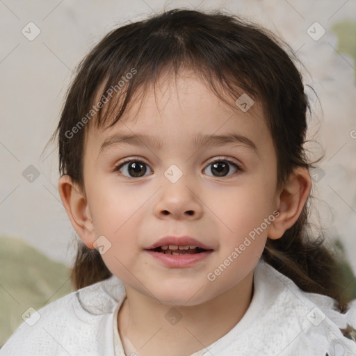
M 145 250 L 152 257 L 161 261 L 165 266 L 172 268 L 184 268 L 191 267 L 197 264 L 197 262 L 203 261 L 210 256 L 213 250 L 208 250 L 195 254 L 165 254 L 162 252 L 156 252 L 152 250 Z

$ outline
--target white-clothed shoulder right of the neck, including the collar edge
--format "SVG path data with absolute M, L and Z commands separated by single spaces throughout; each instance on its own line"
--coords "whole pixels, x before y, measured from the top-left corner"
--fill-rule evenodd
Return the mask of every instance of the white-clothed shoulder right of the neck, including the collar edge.
M 334 308 L 327 296 L 306 293 L 260 260 L 254 269 L 254 292 L 243 318 L 209 353 L 219 356 L 356 355 L 355 341 L 341 329 L 355 328 L 356 300 L 348 313 Z M 354 325 L 354 326 L 353 326 Z

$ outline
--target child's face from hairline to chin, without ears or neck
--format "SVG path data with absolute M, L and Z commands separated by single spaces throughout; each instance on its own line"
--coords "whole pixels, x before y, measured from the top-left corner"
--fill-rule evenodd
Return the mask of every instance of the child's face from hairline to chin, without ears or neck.
M 105 236 L 104 262 L 131 289 L 197 305 L 252 278 L 277 208 L 277 159 L 257 102 L 233 111 L 195 76 L 160 83 L 156 99 L 152 88 L 114 127 L 90 127 L 83 172 L 92 234 L 85 242 L 92 247 Z M 256 149 L 246 140 L 194 145 L 199 136 L 232 134 Z M 114 135 L 133 135 L 136 144 L 113 143 Z M 115 171 L 126 159 L 141 166 Z M 212 251 L 190 266 L 168 266 L 146 250 L 163 236 L 191 236 Z

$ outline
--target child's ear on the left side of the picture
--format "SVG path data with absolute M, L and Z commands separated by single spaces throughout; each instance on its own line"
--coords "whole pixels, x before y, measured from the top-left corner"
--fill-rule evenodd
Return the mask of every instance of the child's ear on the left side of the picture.
M 76 233 L 88 248 L 94 248 L 92 245 L 95 241 L 94 225 L 85 193 L 72 182 L 69 175 L 60 177 L 58 190 Z

